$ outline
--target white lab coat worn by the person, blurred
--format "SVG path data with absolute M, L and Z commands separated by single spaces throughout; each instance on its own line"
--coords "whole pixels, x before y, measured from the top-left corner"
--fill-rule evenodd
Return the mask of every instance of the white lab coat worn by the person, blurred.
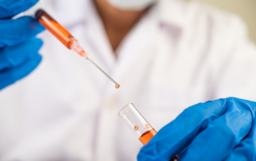
M 40 65 L 0 92 L 1 161 L 132 161 L 142 144 L 118 116 L 128 103 L 158 131 L 199 102 L 256 101 L 256 49 L 229 13 L 162 0 L 115 58 L 89 0 L 46 2 L 45 10 L 121 87 L 43 32 Z

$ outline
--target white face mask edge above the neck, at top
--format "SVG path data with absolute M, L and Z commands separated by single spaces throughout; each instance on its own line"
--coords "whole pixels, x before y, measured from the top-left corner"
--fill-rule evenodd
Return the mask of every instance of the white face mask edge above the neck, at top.
M 117 7 L 121 10 L 136 10 L 140 11 L 143 9 L 146 9 L 150 6 L 150 4 L 153 4 L 153 2 L 156 2 L 157 0 L 106 0 L 108 1 L 112 6 Z

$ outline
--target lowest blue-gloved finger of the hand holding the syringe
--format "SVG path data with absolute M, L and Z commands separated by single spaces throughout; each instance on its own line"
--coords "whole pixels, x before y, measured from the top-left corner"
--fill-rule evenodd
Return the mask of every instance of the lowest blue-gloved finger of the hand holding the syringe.
M 16 82 L 16 80 L 27 76 L 37 67 L 41 59 L 42 57 L 39 54 L 36 54 L 34 57 L 19 66 L 6 68 L 0 71 L 0 89 L 7 87 L 8 85 Z

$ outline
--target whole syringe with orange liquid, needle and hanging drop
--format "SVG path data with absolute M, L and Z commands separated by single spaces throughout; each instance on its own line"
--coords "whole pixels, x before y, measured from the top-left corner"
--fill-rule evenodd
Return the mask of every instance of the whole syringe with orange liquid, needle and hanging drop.
M 78 41 L 67 31 L 63 26 L 56 22 L 49 14 L 43 9 L 38 9 L 35 14 L 37 20 L 48 29 L 58 40 L 60 40 L 68 49 L 71 49 L 89 60 L 95 67 L 97 67 L 103 74 L 105 74 L 112 82 L 115 83 L 115 87 L 119 88 L 120 85 L 115 82 L 108 74 L 106 74 L 97 64 L 95 64 L 85 52 L 85 50 L 79 45 Z

